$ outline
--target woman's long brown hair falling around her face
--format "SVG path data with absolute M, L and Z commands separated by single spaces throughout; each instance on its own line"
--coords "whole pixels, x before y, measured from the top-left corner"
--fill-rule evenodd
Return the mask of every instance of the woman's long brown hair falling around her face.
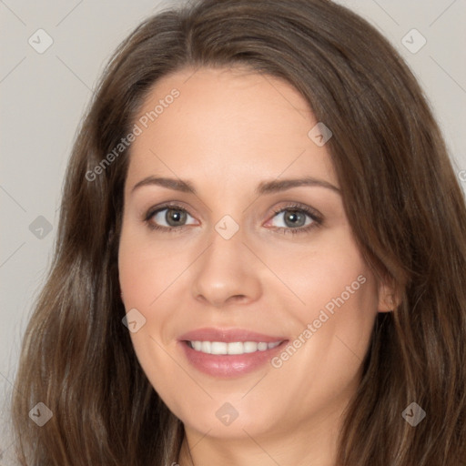
M 360 250 L 400 297 L 376 319 L 339 466 L 460 464 L 461 187 L 409 67 L 374 27 L 326 0 L 199 0 L 149 17 L 118 47 L 76 137 L 53 263 L 25 332 L 13 403 L 21 464 L 177 461 L 182 423 L 151 387 L 121 322 L 117 248 L 130 147 L 89 173 L 131 131 L 157 79 L 187 66 L 248 66 L 299 90 L 333 133 L 328 147 Z M 28 417 L 38 402 L 53 413 L 43 427 Z M 401 415 L 411 402 L 426 412 L 416 427 Z

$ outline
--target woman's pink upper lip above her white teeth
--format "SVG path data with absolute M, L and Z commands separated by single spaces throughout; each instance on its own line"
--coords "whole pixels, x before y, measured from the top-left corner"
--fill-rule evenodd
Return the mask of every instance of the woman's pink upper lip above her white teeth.
M 230 343 L 233 341 L 263 341 L 264 343 L 273 343 L 283 341 L 285 338 L 272 335 L 264 335 L 247 329 L 214 329 L 204 328 L 188 331 L 179 337 L 181 341 L 224 341 Z

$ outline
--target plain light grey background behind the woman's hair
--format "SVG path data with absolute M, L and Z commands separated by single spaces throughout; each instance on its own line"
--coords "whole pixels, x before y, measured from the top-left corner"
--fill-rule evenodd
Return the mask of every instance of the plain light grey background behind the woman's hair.
M 0 465 L 13 464 L 6 408 L 12 390 L 20 390 L 13 384 L 19 346 L 50 263 L 76 127 L 118 43 L 147 15 L 176 3 L 0 0 Z M 466 191 L 466 0 L 339 3 L 375 25 L 419 78 Z M 28 43 L 46 44 L 45 35 L 37 38 L 40 28 L 53 39 L 43 54 Z M 417 53 L 402 42 L 413 28 L 427 40 Z M 404 40 L 420 44 L 416 35 Z

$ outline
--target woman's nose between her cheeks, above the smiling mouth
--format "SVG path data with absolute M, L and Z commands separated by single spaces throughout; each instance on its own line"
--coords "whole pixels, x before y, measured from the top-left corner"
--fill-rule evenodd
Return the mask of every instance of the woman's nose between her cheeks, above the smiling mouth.
M 254 302 L 262 293 L 260 266 L 243 243 L 241 229 L 229 239 L 214 230 L 208 248 L 193 264 L 193 297 L 215 308 Z

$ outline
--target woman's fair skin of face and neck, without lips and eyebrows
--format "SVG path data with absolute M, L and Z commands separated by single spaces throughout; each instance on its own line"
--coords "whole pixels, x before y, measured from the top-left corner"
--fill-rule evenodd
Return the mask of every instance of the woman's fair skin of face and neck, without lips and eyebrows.
M 130 334 L 137 358 L 185 425 L 178 462 L 332 466 L 342 412 L 360 382 L 377 312 L 392 309 L 391 290 L 361 257 L 340 192 L 254 193 L 260 182 L 304 176 L 339 188 L 328 145 L 309 138 L 317 121 L 294 87 L 238 67 L 184 69 L 156 83 L 140 116 L 173 88 L 180 95 L 132 143 L 118 267 L 127 311 L 146 318 Z M 149 176 L 188 180 L 197 195 L 157 185 L 132 191 Z M 170 201 L 187 210 L 181 223 L 175 218 L 186 227 L 148 228 L 147 211 Z M 284 234 L 297 227 L 286 222 L 289 210 L 273 209 L 296 203 L 316 209 L 322 224 Z M 150 221 L 173 226 L 167 213 Z M 229 239 L 215 229 L 226 215 L 239 226 Z M 314 221 L 303 215 L 301 229 Z M 365 283 L 279 369 L 267 363 L 216 378 L 192 367 L 177 344 L 202 327 L 293 341 L 359 276 Z M 226 402 L 238 411 L 228 426 L 216 417 Z

